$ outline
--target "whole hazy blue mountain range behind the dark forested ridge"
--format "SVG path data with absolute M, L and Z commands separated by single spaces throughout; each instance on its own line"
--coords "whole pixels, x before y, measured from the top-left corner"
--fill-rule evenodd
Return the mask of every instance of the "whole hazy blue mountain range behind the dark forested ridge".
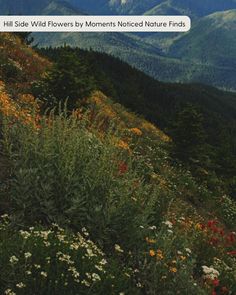
M 104 51 L 159 80 L 236 89 L 236 0 L 0 0 L 0 13 L 189 15 L 188 33 L 41 33 L 36 39 Z

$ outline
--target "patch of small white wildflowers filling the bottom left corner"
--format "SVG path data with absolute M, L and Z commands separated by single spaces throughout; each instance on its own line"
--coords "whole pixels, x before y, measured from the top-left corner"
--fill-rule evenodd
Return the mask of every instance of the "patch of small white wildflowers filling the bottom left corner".
M 107 261 L 85 228 L 71 233 L 53 224 L 12 231 L 4 215 L 0 253 L 1 294 L 118 294 L 129 288 L 126 270 L 116 265 L 113 271 L 112 259 Z

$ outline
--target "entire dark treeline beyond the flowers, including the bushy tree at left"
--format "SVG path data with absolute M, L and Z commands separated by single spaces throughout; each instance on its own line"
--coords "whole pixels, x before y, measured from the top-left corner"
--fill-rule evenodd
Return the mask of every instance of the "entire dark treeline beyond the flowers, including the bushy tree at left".
M 174 138 L 174 147 L 186 154 L 184 141 L 188 137 L 193 112 L 201 117 L 201 131 L 204 138 L 193 144 L 195 151 L 190 156 L 175 155 L 185 161 L 200 178 L 210 178 L 215 184 L 216 175 L 223 179 L 232 196 L 235 196 L 236 175 L 236 96 L 202 84 L 170 84 L 150 78 L 117 58 L 103 53 L 85 51 L 67 46 L 40 50 L 55 62 L 54 68 L 37 88 L 36 94 L 52 101 L 52 97 L 68 99 L 70 107 L 78 104 L 78 98 L 88 95 L 93 89 L 100 89 L 114 100 L 145 116 L 162 127 Z M 58 78 L 60 77 L 60 83 Z M 52 87 L 53 81 L 57 85 Z M 39 86 L 39 85 L 37 85 Z M 55 93 L 53 93 L 55 89 Z M 38 96 L 38 95 L 37 95 Z M 194 110 L 188 114 L 189 104 Z M 47 105 L 48 106 L 48 105 Z M 184 127 L 185 126 L 185 127 Z M 179 127 L 179 130 L 178 130 Z M 183 133 L 181 136 L 180 133 Z M 190 131 L 191 133 L 191 131 Z M 180 142 L 177 142 L 181 138 Z M 196 149 L 202 156 L 194 156 Z M 186 161 L 191 158 L 192 161 Z M 194 163 L 194 164 L 193 164 Z M 199 171 L 201 171 L 199 173 Z M 210 171 L 211 176 L 207 176 Z

